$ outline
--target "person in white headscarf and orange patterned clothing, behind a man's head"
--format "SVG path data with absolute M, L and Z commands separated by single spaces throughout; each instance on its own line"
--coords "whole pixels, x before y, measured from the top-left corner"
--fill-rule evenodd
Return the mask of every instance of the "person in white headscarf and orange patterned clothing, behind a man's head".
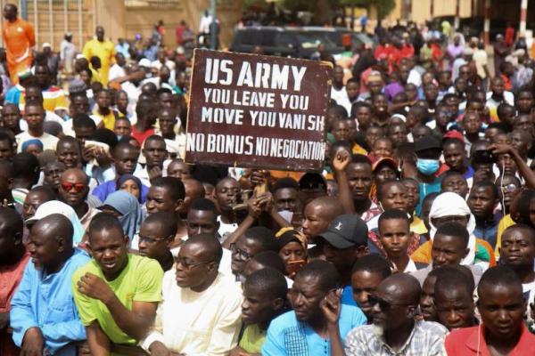
M 418 263 L 432 263 L 432 239 L 434 239 L 437 228 L 443 223 L 449 222 L 456 222 L 465 226 L 470 235 L 470 239 L 468 240 L 469 251 L 461 261 L 461 264 L 479 265 L 483 271 L 496 265 L 496 257 L 489 243 L 483 239 L 477 239 L 473 235 L 475 217 L 466 204 L 465 199 L 453 192 L 442 193 L 432 202 L 429 213 L 429 224 L 431 226 L 429 236 L 431 241 L 425 242 L 410 258 Z

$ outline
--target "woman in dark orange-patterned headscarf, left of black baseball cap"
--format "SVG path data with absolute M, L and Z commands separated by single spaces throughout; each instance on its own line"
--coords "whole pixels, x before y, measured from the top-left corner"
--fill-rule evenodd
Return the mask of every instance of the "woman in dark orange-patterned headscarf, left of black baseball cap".
M 275 235 L 279 251 L 278 254 L 286 266 L 286 275 L 293 279 L 298 271 L 307 263 L 307 238 L 292 228 L 283 228 Z

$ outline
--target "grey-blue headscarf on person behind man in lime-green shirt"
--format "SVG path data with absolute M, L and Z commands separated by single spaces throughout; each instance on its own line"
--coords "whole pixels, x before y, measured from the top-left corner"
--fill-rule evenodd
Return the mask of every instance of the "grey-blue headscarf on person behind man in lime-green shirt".
M 136 197 L 126 191 L 117 190 L 104 200 L 103 205 L 111 206 L 121 214 L 119 223 L 123 231 L 130 239 L 134 239 L 136 232 L 139 230 L 139 225 L 141 225 L 143 220 L 141 206 L 139 206 Z

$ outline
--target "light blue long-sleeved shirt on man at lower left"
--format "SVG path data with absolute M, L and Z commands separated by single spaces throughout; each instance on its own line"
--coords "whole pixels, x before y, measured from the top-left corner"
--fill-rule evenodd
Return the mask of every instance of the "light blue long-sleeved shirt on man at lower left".
M 10 312 L 13 342 L 21 347 L 29 328 L 40 328 L 45 339 L 45 352 L 60 356 L 76 356 L 70 343 L 85 340 L 82 325 L 72 296 L 71 279 L 90 258 L 78 248 L 60 271 L 44 275 L 34 263 L 28 263 L 19 289 L 12 298 Z

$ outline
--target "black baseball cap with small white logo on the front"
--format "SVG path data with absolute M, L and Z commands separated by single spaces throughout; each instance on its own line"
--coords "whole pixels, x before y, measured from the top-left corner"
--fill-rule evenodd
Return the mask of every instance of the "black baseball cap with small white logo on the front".
M 327 231 L 318 238 L 325 239 L 336 248 L 367 245 L 367 226 L 357 215 L 343 214 L 334 218 Z

